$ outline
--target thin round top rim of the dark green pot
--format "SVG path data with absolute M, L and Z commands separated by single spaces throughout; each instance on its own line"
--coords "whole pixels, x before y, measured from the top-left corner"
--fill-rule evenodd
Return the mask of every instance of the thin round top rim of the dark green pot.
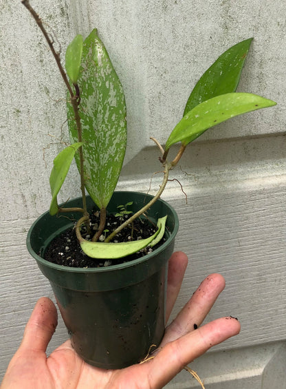
M 140 195 L 142 195 L 142 194 L 146 195 L 147 194 L 147 193 L 137 192 L 137 191 L 115 191 L 114 193 L 118 193 L 118 192 L 120 192 L 120 193 L 128 193 L 129 195 L 131 193 L 140 194 Z M 152 195 L 148 195 L 148 196 L 153 197 Z M 79 196 L 78 198 L 81 198 L 81 196 Z M 72 200 L 76 200 L 78 198 L 74 198 Z M 28 249 L 29 253 L 32 255 L 32 257 L 34 257 L 34 259 L 37 262 L 40 262 L 44 266 L 50 267 L 50 268 L 55 269 L 57 271 L 63 271 L 63 272 L 69 272 L 69 273 L 107 273 L 107 272 L 118 271 L 118 270 L 121 270 L 121 269 L 126 269 L 126 268 L 128 268 L 130 266 L 135 266 L 138 263 L 142 263 L 142 262 L 150 260 L 151 257 L 153 257 L 153 256 L 157 255 L 158 253 L 161 253 L 162 251 L 164 251 L 166 249 L 166 247 L 170 244 L 170 242 L 172 242 L 172 240 L 175 239 L 175 235 L 177 235 L 177 231 L 179 229 L 179 218 L 177 216 L 177 212 L 175 211 L 175 209 L 168 202 L 166 202 L 165 200 L 162 200 L 162 198 L 159 198 L 157 201 L 158 202 L 162 202 L 163 204 L 165 204 L 170 209 L 171 213 L 173 214 L 173 218 L 174 218 L 174 221 L 175 221 L 174 222 L 173 231 L 168 236 L 166 242 L 164 242 L 161 246 L 159 246 L 155 251 L 153 251 L 152 253 L 149 253 L 147 255 L 144 255 L 144 257 L 137 258 L 136 260 L 125 262 L 123 264 L 115 264 L 115 265 L 111 265 L 111 266 L 98 267 L 98 268 L 96 268 L 96 267 L 91 267 L 91 268 L 73 268 L 73 267 L 69 267 L 69 266 L 53 264 L 52 262 L 44 260 L 37 253 L 35 253 L 34 249 L 32 248 L 32 245 L 30 243 L 30 237 L 32 235 L 32 231 L 33 231 L 34 227 L 36 226 L 37 222 L 39 222 L 39 220 L 41 220 L 41 218 L 43 218 L 44 215 L 50 214 L 49 211 L 46 211 L 45 213 L 42 213 L 39 216 L 39 218 L 37 218 L 33 222 L 32 226 L 30 227 L 30 229 L 28 231 L 27 239 L 26 239 L 27 249 Z M 61 207 L 61 205 L 60 205 L 60 207 Z

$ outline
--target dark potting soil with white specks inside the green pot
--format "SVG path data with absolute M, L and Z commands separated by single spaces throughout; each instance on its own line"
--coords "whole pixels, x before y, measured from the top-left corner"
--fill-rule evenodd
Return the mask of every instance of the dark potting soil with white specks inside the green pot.
M 109 235 L 129 217 L 130 215 L 123 215 L 122 218 L 115 217 L 115 215 L 112 214 L 107 215 L 105 229 L 109 231 L 104 232 L 99 240 L 103 241 L 104 234 Z M 98 211 L 91 213 L 90 220 L 92 231 L 91 235 L 94 235 L 98 229 L 98 224 L 100 221 Z M 153 235 L 155 231 L 157 231 L 157 226 L 151 224 L 145 218 L 137 218 L 134 220 L 133 224 L 129 224 L 129 226 L 122 229 L 118 235 L 115 235 L 115 238 L 113 238 L 112 242 L 129 242 L 130 240 L 145 239 Z M 84 226 L 82 226 L 80 232 L 83 235 L 83 238 L 87 240 L 91 239 L 91 236 L 87 233 Z M 44 257 L 45 260 L 49 262 L 69 267 L 89 268 L 111 266 L 143 257 L 144 255 L 151 253 L 158 246 L 162 245 L 164 241 L 165 239 L 162 239 L 161 242 L 156 244 L 154 247 L 151 248 L 147 246 L 137 253 L 129 255 L 128 257 L 123 257 L 116 260 L 98 260 L 91 258 L 83 253 L 76 238 L 76 231 L 74 228 L 72 228 L 67 229 L 61 235 L 58 235 L 58 237 L 52 240 L 50 246 L 48 246 L 47 250 L 45 251 Z

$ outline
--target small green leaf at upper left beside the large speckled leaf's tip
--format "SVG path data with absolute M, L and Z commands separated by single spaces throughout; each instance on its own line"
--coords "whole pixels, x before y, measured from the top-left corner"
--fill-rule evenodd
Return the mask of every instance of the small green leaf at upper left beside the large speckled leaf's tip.
M 65 52 L 65 69 L 71 83 L 78 81 L 80 71 L 81 56 L 83 54 L 83 36 L 78 34 L 74 40 L 67 46 Z

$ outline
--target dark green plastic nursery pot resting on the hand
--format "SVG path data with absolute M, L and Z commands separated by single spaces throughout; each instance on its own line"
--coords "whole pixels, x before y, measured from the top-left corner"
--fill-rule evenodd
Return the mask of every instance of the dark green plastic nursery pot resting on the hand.
M 108 211 L 115 213 L 118 204 L 130 201 L 131 210 L 137 211 L 151 198 L 144 193 L 115 192 Z M 81 198 L 65 206 L 80 207 Z M 87 207 L 94 208 L 89 197 Z M 159 346 L 165 328 L 167 264 L 179 222 L 174 209 L 157 200 L 148 217 L 155 221 L 164 215 L 168 215 L 168 231 L 159 249 L 140 259 L 103 268 L 69 268 L 43 259 L 52 239 L 72 227 L 79 213 L 57 218 L 46 212 L 30 228 L 28 251 L 50 281 L 72 346 L 88 364 L 124 368 L 146 357 L 152 344 Z

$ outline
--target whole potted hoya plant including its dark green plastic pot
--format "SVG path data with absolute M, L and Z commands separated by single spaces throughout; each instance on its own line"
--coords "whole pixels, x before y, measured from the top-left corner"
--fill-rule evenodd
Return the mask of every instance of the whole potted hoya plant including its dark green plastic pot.
M 41 28 L 67 87 L 71 139 L 54 159 L 50 211 L 32 225 L 28 250 L 50 280 L 76 352 L 94 366 L 123 368 L 143 358 L 164 334 L 166 265 L 178 229 L 175 211 L 160 199 L 169 171 L 207 129 L 276 103 L 235 92 L 252 39 L 241 41 L 201 76 L 166 145 L 153 138 L 164 171 L 156 195 L 115 192 L 126 149 L 126 106 L 107 50 L 96 30 L 85 40 L 77 35 L 64 69 L 38 14 L 28 0 L 22 3 Z M 179 152 L 168 160 L 177 143 Z M 74 158 L 82 197 L 58 205 Z

